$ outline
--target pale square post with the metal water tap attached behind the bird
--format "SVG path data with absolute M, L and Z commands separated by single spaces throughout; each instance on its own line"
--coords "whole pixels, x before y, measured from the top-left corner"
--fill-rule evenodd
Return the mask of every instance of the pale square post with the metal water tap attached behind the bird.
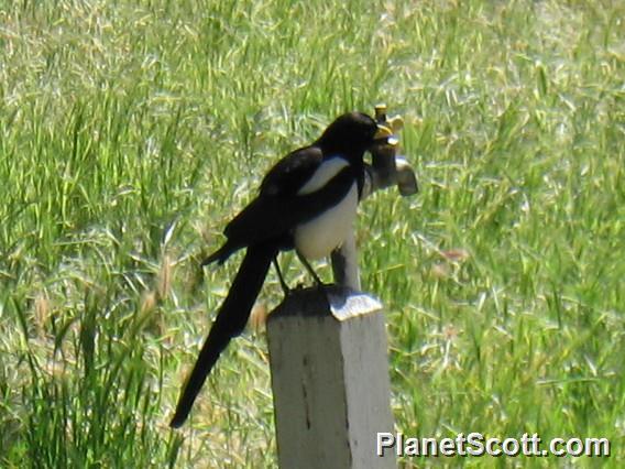
M 376 108 L 376 117 L 386 122 L 385 110 Z M 395 151 L 373 152 L 366 195 L 397 182 L 402 194 L 416 192 Z M 408 183 L 401 183 L 403 172 L 412 174 Z M 376 454 L 377 433 L 394 429 L 384 314 L 359 292 L 353 237 L 332 254 L 332 266 L 337 286 L 295 291 L 268 316 L 279 467 L 395 468 L 393 451 Z

